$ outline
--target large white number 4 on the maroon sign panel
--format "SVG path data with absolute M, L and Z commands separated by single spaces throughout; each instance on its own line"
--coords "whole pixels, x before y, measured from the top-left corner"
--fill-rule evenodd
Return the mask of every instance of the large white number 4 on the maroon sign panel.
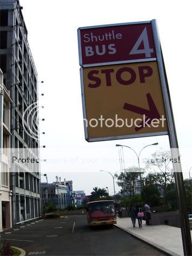
M 138 49 L 140 47 L 140 44 L 144 44 L 144 49 Z M 149 48 L 149 40 L 147 35 L 147 28 L 145 27 L 143 29 L 143 32 L 141 33 L 140 37 L 138 38 L 137 42 L 135 43 L 133 49 L 130 51 L 130 54 L 145 54 L 145 57 L 151 57 L 151 52 L 154 52 L 154 49 Z

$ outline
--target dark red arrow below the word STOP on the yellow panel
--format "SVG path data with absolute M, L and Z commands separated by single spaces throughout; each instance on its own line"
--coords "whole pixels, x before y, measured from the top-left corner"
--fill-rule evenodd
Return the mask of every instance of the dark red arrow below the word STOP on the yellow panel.
M 147 96 L 147 101 L 148 101 L 148 105 L 149 105 L 149 110 L 145 109 L 145 108 L 140 108 L 140 107 L 128 104 L 128 103 L 124 103 L 123 109 L 132 111 L 137 114 L 147 116 L 145 120 L 149 120 L 147 123 L 150 124 L 153 119 L 160 118 L 160 113 L 158 113 L 158 110 L 155 106 L 155 103 L 154 103 L 150 93 L 148 93 L 146 96 Z M 138 126 L 140 126 L 140 125 L 141 125 L 141 127 L 135 127 L 136 132 L 143 128 L 143 121 L 140 124 L 138 124 Z

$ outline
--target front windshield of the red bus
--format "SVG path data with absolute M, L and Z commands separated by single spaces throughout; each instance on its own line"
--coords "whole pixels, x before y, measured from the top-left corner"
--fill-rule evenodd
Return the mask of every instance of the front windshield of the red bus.
M 115 216 L 114 202 L 95 202 L 89 205 L 90 218 Z

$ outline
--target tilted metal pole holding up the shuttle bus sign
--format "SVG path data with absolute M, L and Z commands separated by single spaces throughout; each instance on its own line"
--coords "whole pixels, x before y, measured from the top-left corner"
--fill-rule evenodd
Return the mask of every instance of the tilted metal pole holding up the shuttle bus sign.
M 178 150 L 178 141 L 177 141 L 177 135 L 176 135 L 176 129 L 175 129 L 175 123 L 174 123 L 173 110 L 171 108 L 168 82 L 167 82 L 167 77 L 165 73 L 164 62 L 163 62 L 162 52 L 161 52 L 161 45 L 158 37 L 157 25 L 156 25 L 155 19 L 151 21 L 151 24 L 152 24 L 153 33 L 154 33 L 157 62 L 158 62 L 158 68 L 159 68 L 161 84 L 162 84 L 162 94 L 163 94 L 164 103 L 165 103 L 164 107 L 165 107 L 165 112 L 167 114 L 167 124 L 169 129 L 169 143 L 171 148 L 171 154 L 173 159 L 177 159 L 177 162 L 173 163 L 173 168 L 174 168 L 174 178 L 175 178 L 175 185 L 176 185 L 178 208 L 179 208 L 180 220 L 181 220 L 183 252 L 184 252 L 184 255 L 192 255 L 191 235 L 190 235 L 190 227 L 189 227 L 188 213 L 187 213 L 187 207 L 186 207 L 186 193 L 184 190 L 181 163 L 179 161 L 180 154 Z

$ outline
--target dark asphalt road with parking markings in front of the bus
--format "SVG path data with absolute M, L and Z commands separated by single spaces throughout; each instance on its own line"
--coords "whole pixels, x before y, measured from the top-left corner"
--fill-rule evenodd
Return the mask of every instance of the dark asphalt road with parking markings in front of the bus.
M 26 255 L 165 255 L 117 227 L 90 229 L 85 215 L 28 225 L 1 233 L 1 241 L 23 248 Z

